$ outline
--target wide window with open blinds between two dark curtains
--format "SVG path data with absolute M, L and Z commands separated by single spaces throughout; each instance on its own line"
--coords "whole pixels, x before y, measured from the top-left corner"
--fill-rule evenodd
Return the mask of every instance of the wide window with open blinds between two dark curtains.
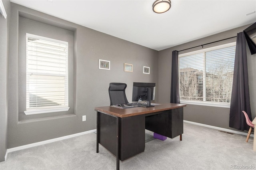
M 230 105 L 236 46 L 179 55 L 180 101 Z

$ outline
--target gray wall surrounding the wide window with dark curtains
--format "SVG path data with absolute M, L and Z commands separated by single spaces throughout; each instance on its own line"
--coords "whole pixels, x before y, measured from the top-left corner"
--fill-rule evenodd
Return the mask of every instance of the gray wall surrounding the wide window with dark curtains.
M 230 38 L 230 37 L 236 36 L 237 33 L 242 32 L 245 28 L 247 28 L 250 25 L 251 24 L 159 51 L 159 54 L 158 54 L 159 102 L 160 103 L 170 102 L 171 65 L 172 65 L 173 50 L 179 51 L 182 49 L 187 49 L 187 48 L 202 45 L 205 43 L 210 43 L 210 42 L 215 42 L 225 38 Z M 230 43 L 230 42 L 236 42 L 236 38 L 205 45 L 204 48 L 221 45 L 224 43 Z M 195 51 L 198 49 L 202 49 L 202 47 L 181 51 L 180 54 L 190 52 L 190 51 Z M 247 46 L 247 58 L 248 58 L 250 103 L 251 103 L 251 109 L 252 109 L 252 117 L 254 118 L 256 116 L 256 105 L 255 105 L 256 103 L 256 86 L 255 86 L 256 54 L 251 55 L 249 52 L 248 46 Z M 236 130 L 233 128 L 229 128 L 229 111 L 230 111 L 229 108 L 187 105 L 186 107 L 184 107 L 184 120 Z

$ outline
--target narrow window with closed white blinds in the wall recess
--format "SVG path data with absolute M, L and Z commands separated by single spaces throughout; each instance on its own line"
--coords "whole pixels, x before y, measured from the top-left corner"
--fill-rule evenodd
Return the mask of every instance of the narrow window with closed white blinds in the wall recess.
M 66 111 L 62 109 L 67 107 L 68 42 L 27 34 L 26 112 Z

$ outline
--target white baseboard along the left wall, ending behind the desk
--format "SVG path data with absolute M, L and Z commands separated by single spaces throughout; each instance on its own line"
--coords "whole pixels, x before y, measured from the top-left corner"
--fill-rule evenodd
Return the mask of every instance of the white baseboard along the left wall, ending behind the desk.
M 14 151 L 22 150 L 22 149 L 26 149 L 26 148 L 32 148 L 34 146 L 39 146 L 39 145 L 42 145 L 42 144 L 48 144 L 48 143 L 52 143 L 52 142 L 56 142 L 56 141 L 64 140 L 64 139 L 68 139 L 68 138 L 73 138 L 73 137 L 76 137 L 76 136 L 92 133 L 92 132 L 95 132 L 95 131 L 96 131 L 96 129 L 93 129 L 93 130 L 88 130 L 88 131 L 85 131 L 85 132 L 80 132 L 80 133 L 76 133 L 76 134 L 70 134 L 70 135 L 67 135 L 67 136 L 62 136 L 62 137 L 59 137 L 59 138 L 44 140 L 44 141 L 41 141 L 41 142 L 36 142 L 36 143 L 32 143 L 32 144 L 26 144 L 26 145 L 23 145 L 23 146 L 10 148 L 10 149 L 7 149 L 6 154 L 4 156 L 4 159 L 6 160 L 7 155 L 10 152 L 14 152 Z

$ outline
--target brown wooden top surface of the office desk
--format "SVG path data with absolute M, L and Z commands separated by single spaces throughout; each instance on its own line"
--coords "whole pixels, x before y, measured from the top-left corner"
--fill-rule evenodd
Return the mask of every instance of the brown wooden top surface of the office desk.
M 185 106 L 186 105 L 184 104 L 167 103 L 167 104 L 155 105 L 154 107 L 146 107 L 146 108 L 133 107 L 128 109 L 120 109 L 120 108 L 111 107 L 111 106 L 104 106 L 104 107 L 95 107 L 95 110 L 122 118 L 122 117 L 130 117 L 130 116 L 166 111 L 166 110 L 176 109 L 176 108 L 185 107 Z

